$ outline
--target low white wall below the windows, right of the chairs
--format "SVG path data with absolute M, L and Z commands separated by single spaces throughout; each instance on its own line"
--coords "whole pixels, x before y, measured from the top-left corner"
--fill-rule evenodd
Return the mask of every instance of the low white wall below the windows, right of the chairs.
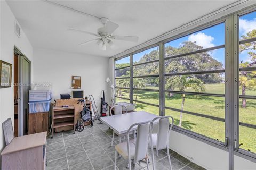
M 206 169 L 226 170 L 228 169 L 228 152 L 213 147 L 204 142 L 190 138 L 181 133 L 172 131 L 169 142 L 170 149 L 197 165 Z M 234 156 L 235 170 L 256 169 L 256 163 L 242 157 Z

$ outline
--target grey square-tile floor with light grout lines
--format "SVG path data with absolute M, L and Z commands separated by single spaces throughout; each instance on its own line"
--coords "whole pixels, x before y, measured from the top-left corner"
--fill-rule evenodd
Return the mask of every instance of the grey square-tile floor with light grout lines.
M 86 126 L 82 132 L 76 132 L 75 134 L 72 134 L 71 131 L 54 133 L 53 139 L 50 137 L 47 139 L 46 169 L 114 169 L 115 146 L 110 147 L 112 133 L 108 126 L 98 122 L 95 122 L 92 127 Z M 115 142 L 118 142 L 118 140 L 118 137 L 116 137 Z M 149 150 L 149 155 L 151 155 L 151 150 Z M 170 150 L 170 155 L 173 170 L 204 169 L 172 150 Z M 154 152 L 154 159 L 155 169 L 170 169 L 166 150 L 159 151 L 158 157 Z M 117 159 L 117 170 L 126 170 L 126 165 L 127 160 Z M 152 169 L 151 162 L 149 165 Z M 139 162 L 132 169 L 147 169 L 147 165 L 144 162 Z

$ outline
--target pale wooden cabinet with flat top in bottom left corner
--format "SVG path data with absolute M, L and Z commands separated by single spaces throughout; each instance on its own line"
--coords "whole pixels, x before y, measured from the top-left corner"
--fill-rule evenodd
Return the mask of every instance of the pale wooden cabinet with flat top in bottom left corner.
M 47 132 L 14 138 L 1 153 L 2 169 L 45 169 Z

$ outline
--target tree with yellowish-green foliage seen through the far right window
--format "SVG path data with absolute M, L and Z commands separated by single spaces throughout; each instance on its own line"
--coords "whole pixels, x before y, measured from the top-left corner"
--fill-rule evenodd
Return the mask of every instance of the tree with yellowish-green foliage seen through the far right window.
M 246 35 L 241 36 L 242 40 L 256 37 L 256 30 L 252 30 Z M 256 65 L 256 42 L 250 42 L 240 45 L 240 52 L 247 51 L 250 56 L 250 62 L 240 62 L 240 67 L 250 67 Z M 256 71 L 241 71 L 239 75 L 239 86 L 241 87 L 242 95 L 246 95 L 246 90 L 253 90 L 256 86 Z M 242 99 L 242 107 L 246 107 L 246 99 Z

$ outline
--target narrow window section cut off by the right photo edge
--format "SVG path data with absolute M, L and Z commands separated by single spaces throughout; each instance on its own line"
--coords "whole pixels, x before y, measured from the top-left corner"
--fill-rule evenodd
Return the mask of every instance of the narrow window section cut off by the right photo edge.
M 256 153 L 256 12 L 239 17 L 239 144 Z

